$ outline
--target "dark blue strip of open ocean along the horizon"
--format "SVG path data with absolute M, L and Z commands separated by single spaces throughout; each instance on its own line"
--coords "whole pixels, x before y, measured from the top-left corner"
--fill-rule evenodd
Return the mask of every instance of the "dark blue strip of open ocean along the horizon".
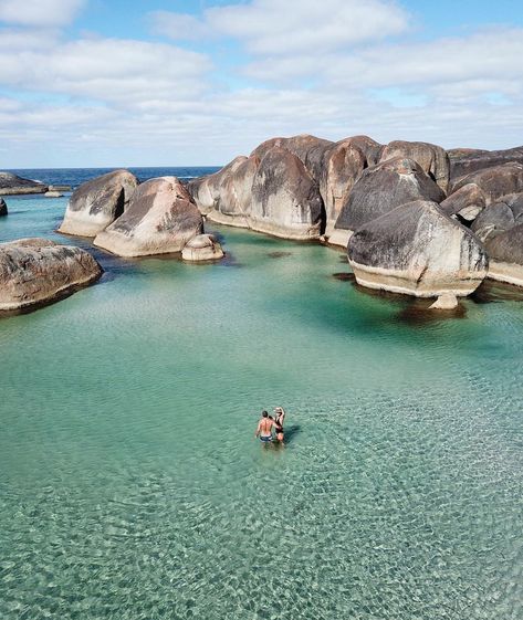
M 117 170 L 114 168 L 17 168 L 11 169 L 9 172 L 13 172 L 19 177 L 24 179 L 32 179 L 36 181 L 42 181 L 46 185 L 66 185 L 71 186 L 72 189 L 77 188 L 80 185 L 111 172 L 112 170 Z M 212 166 L 201 166 L 201 167 L 165 167 L 165 168 L 127 168 L 130 170 L 140 182 L 147 179 L 153 179 L 155 177 L 166 177 L 174 176 L 178 177 L 182 181 L 193 179 L 195 177 L 201 177 L 203 175 L 211 175 L 219 170 L 219 167 Z

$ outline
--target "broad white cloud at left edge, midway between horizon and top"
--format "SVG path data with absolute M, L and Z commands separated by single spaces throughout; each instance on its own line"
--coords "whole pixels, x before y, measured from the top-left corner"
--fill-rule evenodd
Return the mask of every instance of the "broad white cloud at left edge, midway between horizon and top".
M 133 105 L 187 101 L 202 90 L 211 67 L 203 54 L 163 43 L 84 39 L 50 50 L 4 52 L 0 82 L 11 87 Z

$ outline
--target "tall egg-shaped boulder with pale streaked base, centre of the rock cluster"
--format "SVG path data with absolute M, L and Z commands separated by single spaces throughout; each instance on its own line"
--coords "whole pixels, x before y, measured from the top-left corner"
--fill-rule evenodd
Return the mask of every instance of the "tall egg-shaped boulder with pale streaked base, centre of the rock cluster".
M 325 221 L 316 181 L 304 164 L 282 147 L 260 161 L 252 183 L 249 225 L 285 239 L 317 239 Z

